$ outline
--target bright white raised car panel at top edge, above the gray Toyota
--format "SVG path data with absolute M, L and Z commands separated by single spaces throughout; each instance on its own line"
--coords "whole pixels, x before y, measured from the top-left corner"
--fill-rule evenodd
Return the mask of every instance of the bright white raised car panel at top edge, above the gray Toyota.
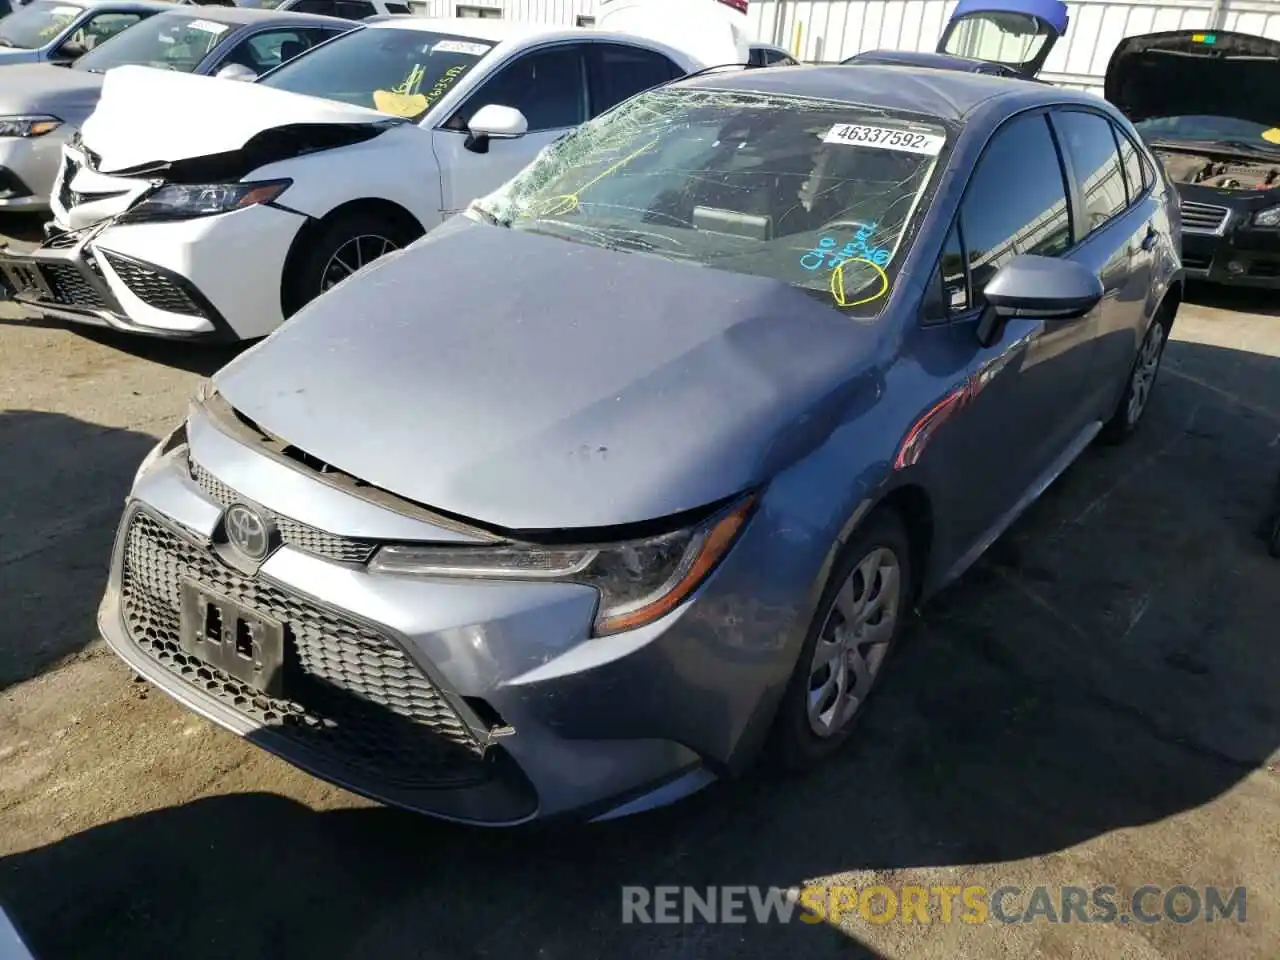
M 748 0 L 599 0 L 595 26 L 682 50 L 705 67 L 751 55 Z

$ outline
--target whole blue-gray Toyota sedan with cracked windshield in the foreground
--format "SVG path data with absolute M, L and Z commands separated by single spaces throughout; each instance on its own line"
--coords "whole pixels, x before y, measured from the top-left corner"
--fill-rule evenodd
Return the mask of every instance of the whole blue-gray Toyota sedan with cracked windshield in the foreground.
M 815 763 L 909 611 L 1138 424 L 1171 197 L 1116 110 L 1039 83 L 641 93 L 215 375 L 138 472 L 101 630 L 457 820 Z

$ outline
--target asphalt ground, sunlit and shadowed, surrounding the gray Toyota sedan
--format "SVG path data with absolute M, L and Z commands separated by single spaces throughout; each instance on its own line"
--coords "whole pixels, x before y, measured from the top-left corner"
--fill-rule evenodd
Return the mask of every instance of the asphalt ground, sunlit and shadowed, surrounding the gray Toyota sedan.
M 102 648 L 133 472 L 233 351 L 0 305 L 0 904 L 41 960 L 1280 956 L 1280 561 L 1257 535 L 1280 296 L 1193 297 L 1139 435 L 923 611 L 836 762 L 516 832 L 352 797 Z M 1157 914 L 1178 884 L 1243 887 L 1247 913 L 906 923 L 877 893 L 836 922 L 623 923 L 627 886 L 809 883 L 1016 887 L 1014 919 L 1037 887 L 1110 884 L 1121 915 L 1144 884 Z

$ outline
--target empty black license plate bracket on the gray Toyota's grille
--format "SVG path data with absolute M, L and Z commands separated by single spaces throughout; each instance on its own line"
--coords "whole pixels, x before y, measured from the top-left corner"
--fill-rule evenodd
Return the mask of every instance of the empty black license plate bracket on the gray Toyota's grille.
M 183 581 L 179 645 L 268 696 L 284 696 L 284 625 Z

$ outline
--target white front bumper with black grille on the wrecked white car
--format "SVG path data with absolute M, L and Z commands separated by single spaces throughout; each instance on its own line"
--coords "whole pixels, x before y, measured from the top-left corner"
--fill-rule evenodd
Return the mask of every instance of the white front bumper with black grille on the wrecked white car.
M 283 321 L 280 278 L 301 215 L 268 207 L 168 223 L 114 218 L 0 251 L 17 302 L 58 320 L 180 339 L 239 340 Z

